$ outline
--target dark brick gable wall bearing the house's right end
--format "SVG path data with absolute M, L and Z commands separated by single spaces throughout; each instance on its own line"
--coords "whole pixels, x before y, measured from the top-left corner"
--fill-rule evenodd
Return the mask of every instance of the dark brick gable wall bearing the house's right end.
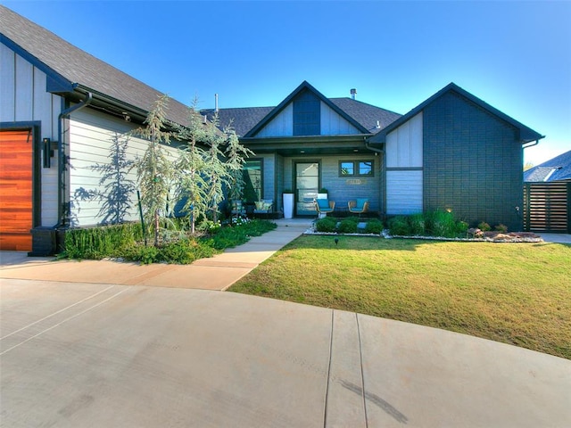
M 516 128 L 448 92 L 424 110 L 424 154 L 425 210 L 451 209 L 470 226 L 486 221 L 522 230 Z

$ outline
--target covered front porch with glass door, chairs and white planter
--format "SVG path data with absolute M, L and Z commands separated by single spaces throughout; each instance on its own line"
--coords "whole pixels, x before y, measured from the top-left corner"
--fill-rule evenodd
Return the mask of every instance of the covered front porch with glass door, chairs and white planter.
M 333 215 L 344 217 L 350 201 L 368 200 L 362 215 L 378 217 L 385 212 L 384 153 L 368 147 L 363 138 L 347 136 L 343 144 L 327 144 L 327 138 L 300 142 L 267 140 L 249 145 L 255 157 L 244 169 L 244 201 L 271 200 L 272 211 L 284 213 L 284 193 L 294 194 L 294 218 L 316 218 L 314 200 L 327 197 L 335 202 Z M 282 140 L 282 139 L 279 139 Z M 259 142 L 256 142 L 259 143 Z M 322 193 L 327 193 L 324 196 Z

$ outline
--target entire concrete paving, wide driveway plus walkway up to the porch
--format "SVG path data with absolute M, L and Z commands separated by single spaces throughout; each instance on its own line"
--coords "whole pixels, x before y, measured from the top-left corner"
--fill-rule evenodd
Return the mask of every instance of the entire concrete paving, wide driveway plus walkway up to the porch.
M 567 359 L 186 289 L 225 289 L 306 226 L 282 223 L 194 270 L 3 254 L 0 424 L 571 426 Z

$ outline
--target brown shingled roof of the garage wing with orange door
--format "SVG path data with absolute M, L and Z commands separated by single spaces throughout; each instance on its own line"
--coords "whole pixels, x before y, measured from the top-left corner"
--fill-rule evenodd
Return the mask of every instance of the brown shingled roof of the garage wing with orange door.
M 132 107 L 145 116 L 161 92 L 82 51 L 51 31 L 0 5 L 0 41 L 48 76 L 48 90 L 69 94 L 75 89 L 92 92 L 117 110 Z M 168 119 L 185 124 L 187 108 L 170 99 Z

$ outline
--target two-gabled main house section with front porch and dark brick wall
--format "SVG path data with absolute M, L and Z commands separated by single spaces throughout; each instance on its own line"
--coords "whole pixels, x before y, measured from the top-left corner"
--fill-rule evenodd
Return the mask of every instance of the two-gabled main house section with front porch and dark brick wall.
M 510 230 L 522 227 L 523 148 L 543 137 L 453 83 L 404 116 L 302 82 L 276 107 L 219 117 L 257 154 L 252 197 L 279 208 L 293 189 L 296 216 L 314 216 L 325 187 L 335 209 L 368 198 L 382 217 L 451 210 Z

